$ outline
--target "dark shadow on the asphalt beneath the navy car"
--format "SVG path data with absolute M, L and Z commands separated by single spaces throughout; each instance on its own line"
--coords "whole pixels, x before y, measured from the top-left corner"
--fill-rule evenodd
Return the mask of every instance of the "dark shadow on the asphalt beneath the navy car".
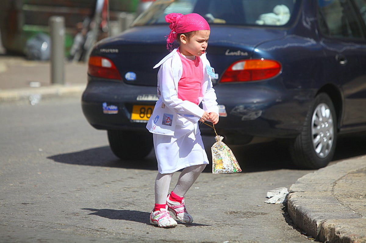
M 205 149 L 211 159 L 210 147 L 212 138 L 204 138 Z M 337 142 L 333 161 L 339 161 L 366 154 L 366 136 L 340 137 Z M 229 146 L 238 160 L 243 172 L 259 172 L 279 169 L 297 170 L 288 152 L 288 143 L 275 141 L 270 143 L 253 144 L 249 146 Z M 55 162 L 87 166 L 120 167 L 126 169 L 157 170 L 154 150 L 144 159 L 122 160 L 117 158 L 109 146 L 90 148 L 87 150 L 57 154 L 50 157 Z M 212 166 L 207 165 L 203 173 L 212 173 Z

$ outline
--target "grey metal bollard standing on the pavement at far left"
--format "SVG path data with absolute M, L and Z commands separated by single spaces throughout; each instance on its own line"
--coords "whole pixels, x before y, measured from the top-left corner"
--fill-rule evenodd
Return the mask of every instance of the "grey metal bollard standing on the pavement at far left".
M 51 35 L 51 83 L 65 84 L 65 19 L 62 16 L 49 18 Z

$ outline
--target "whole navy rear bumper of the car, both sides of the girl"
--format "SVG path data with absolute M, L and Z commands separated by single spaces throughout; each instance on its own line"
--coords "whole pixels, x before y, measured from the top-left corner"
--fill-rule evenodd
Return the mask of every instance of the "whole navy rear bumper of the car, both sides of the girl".
M 246 144 L 253 138 L 294 138 L 302 129 L 311 92 L 246 84 L 219 84 L 215 87 L 221 105 L 218 134 L 228 143 Z M 132 105 L 154 105 L 156 87 L 128 85 L 94 79 L 82 96 L 82 110 L 88 122 L 104 130 L 146 130 L 146 121 L 131 120 Z M 103 103 L 117 107 L 117 113 L 103 111 Z M 225 114 L 226 113 L 226 114 Z M 200 125 L 203 135 L 212 128 Z M 146 130 L 147 131 L 147 130 Z

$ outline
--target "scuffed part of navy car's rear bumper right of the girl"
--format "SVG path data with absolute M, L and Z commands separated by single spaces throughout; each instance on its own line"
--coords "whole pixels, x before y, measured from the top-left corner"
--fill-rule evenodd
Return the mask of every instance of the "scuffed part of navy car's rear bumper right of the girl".
M 269 85 L 230 86 L 215 86 L 217 102 L 225 106 L 227 113 L 217 125 L 223 133 L 272 138 L 299 134 L 313 97 L 311 92 Z

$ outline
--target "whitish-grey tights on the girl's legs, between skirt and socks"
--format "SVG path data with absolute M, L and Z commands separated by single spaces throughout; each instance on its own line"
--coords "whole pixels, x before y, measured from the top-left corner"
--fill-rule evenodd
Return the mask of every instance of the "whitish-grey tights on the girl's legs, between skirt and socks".
M 199 174 L 205 169 L 206 165 L 194 165 L 186 167 L 179 175 L 178 182 L 175 185 L 173 192 L 180 197 L 184 197 L 188 189 L 197 180 Z M 174 173 L 160 174 L 156 176 L 155 180 L 155 203 L 165 204 L 169 193 L 170 181 Z

